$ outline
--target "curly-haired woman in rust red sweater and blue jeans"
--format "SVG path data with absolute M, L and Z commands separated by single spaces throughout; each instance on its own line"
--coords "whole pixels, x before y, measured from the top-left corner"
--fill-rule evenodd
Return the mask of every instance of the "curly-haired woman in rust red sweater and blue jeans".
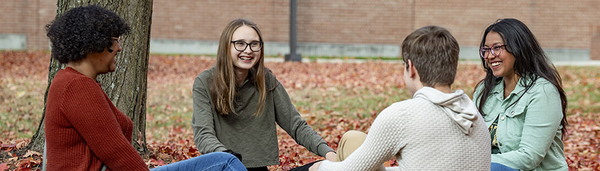
M 73 8 L 47 25 L 59 70 L 45 115 L 47 170 L 148 170 L 132 146 L 133 124 L 101 89 L 97 75 L 115 71 L 130 27 L 97 5 Z M 228 153 L 211 153 L 157 170 L 245 170 Z

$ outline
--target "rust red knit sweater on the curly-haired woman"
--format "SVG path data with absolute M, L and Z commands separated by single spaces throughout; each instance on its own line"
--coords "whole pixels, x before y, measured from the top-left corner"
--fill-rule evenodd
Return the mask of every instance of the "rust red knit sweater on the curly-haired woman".
M 47 170 L 148 170 L 131 145 L 130 118 L 77 70 L 58 71 L 45 117 Z

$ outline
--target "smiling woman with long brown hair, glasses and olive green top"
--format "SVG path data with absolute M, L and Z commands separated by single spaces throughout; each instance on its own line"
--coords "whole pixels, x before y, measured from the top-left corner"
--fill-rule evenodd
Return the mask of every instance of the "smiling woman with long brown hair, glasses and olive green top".
M 279 164 L 276 124 L 311 152 L 335 159 L 335 152 L 293 106 L 275 75 L 265 67 L 263 36 L 252 21 L 236 19 L 223 30 L 217 64 L 193 84 L 194 142 L 200 153 L 227 151 L 248 170 Z M 308 166 L 309 167 L 309 166 Z

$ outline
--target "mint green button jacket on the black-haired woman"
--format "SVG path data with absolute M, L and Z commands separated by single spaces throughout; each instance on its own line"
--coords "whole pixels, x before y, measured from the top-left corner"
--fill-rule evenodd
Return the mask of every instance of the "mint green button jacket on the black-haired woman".
M 504 81 L 500 81 L 492 88 L 483 106 L 483 119 L 488 127 L 499 118 L 496 140 L 501 153 L 492 154 L 492 162 L 517 170 L 568 170 L 560 131 L 563 115 L 557 88 L 540 77 L 525 92 L 525 83 L 530 82 L 531 79 L 522 77 L 504 98 Z M 473 94 L 477 107 L 482 91 L 483 83 Z M 522 97 L 519 99 L 519 96 Z

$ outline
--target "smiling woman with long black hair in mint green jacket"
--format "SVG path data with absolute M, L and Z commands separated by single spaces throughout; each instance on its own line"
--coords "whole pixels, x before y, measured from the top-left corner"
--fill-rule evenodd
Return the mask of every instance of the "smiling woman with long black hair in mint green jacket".
M 473 101 L 492 137 L 492 170 L 568 170 L 566 96 L 535 36 L 506 18 L 485 29 L 480 47 L 485 79 Z

